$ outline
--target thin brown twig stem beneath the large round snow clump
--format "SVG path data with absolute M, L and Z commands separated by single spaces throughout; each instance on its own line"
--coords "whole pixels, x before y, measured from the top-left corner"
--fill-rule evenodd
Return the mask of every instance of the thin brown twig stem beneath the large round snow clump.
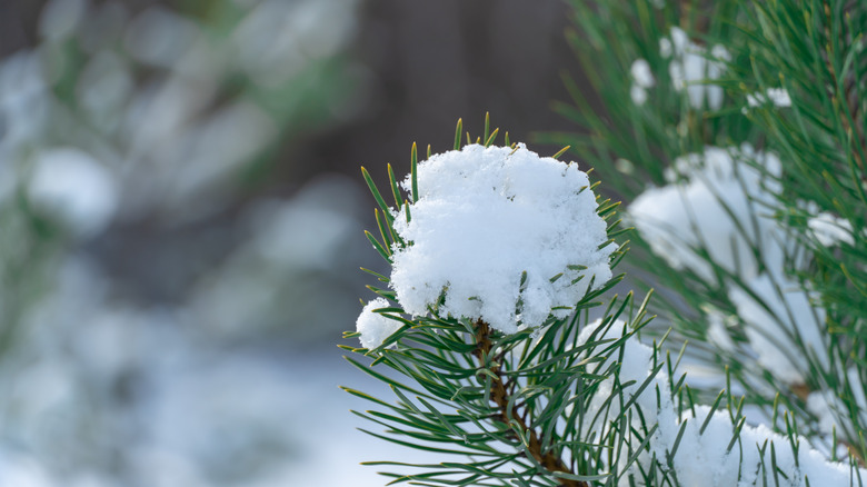
M 489 357 L 491 352 L 491 341 L 490 325 L 482 320 L 476 321 L 476 345 L 477 348 L 474 351 L 474 355 L 478 358 L 479 365 L 485 367 L 487 365 L 486 358 Z M 494 372 L 494 376 L 496 377 L 491 379 L 490 400 L 499 408 L 499 417 L 497 419 L 507 425 L 517 426 L 522 431 L 524 436 L 528 438 L 527 450 L 546 470 L 575 475 L 575 473 L 562 461 L 562 458 L 560 458 L 557 450 L 549 449 L 542 451 L 538 431 L 527 424 L 527 411 L 521 414 L 518 405 L 512 405 L 511 408 L 509 408 L 510 395 L 507 391 L 507 385 L 502 380 L 502 374 L 498 361 L 495 360 L 490 362 L 490 371 Z M 561 487 L 589 487 L 587 483 L 581 480 L 560 478 L 559 481 Z

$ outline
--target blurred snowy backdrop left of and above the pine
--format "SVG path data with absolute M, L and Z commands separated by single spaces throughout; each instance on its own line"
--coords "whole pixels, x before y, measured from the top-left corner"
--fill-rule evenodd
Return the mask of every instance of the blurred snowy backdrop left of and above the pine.
M 359 166 L 569 130 L 559 0 L 2 0 L 0 487 L 379 486 Z M 532 146 L 541 153 L 559 148 Z M 355 345 L 355 342 L 348 342 Z

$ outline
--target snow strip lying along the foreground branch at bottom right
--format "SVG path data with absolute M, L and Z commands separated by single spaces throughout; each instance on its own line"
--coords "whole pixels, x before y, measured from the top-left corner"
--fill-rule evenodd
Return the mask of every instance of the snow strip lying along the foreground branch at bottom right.
M 579 337 L 579 342 L 584 344 L 590 337 L 590 334 L 598 328 L 600 320 L 587 326 Z M 624 329 L 622 321 L 617 321 L 604 335 L 595 339 L 621 337 Z M 629 400 L 635 396 L 640 385 L 647 380 L 652 369 L 652 350 L 640 344 L 635 337 L 629 338 L 624 344 L 624 352 L 620 364 L 619 382 L 626 384 L 634 380 L 635 384 L 624 389 L 624 400 Z M 615 357 L 618 355 L 615 354 Z M 608 365 L 601 365 L 600 370 L 605 370 Z M 611 394 L 614 378 L 610 377 L 602 381 L 594 398 L 590 400 L 589 410 L 586 417 L 596 417 L 601 408 L 607 407 L 606 400 Z M 657 407 L 657 390 L 659 391 L 659 407 Z M 767 468 L 768 478 L 773 479 L 770 473 L 771 448 L 768 445 L 764 451 L 760 449 L 766 441 L 773 443 L 775 447 L 775 461 L 777 467 L 786 477 L 779 476 L 780 486 L 803 487 L 806 485 L 805 477 L 811 480 L 811 485 L 820 481 L 826 486 L 847 486 L 849 485 L 849 468 L 843 464 L 833 464 L 827 460 L 819 451 L 813 449 L 806 438 L 798 437 L 800 447 L 796 455 L 791 450 L 788 438 L 771 431 L 765 425 L 751 426 L 745 425 L 740 431 L 740 439 L 730 451 L 726 451 L 734 431 L 735 425 L 731 423 L 728 411 L 717 410 L 707 423 L 704 433 L 700 431 L 702 424 L 710 414 L 707 406 L 697 406 L 695 417 L 689 408 L 685 408 L 682 416 L 677 414 L 676 404 L 668 395 L 669 377 L 665 368 L 651 379 L 650 385 L 638 396 L 635 405 L 640 408 L 644 423 L 646 425 L 659 425 L 648 445 L 657 459 L 666 461 L 669 453 L 672 450 L 681 426 L 684 434 L 679 446 L 671 457 L 671 466 L 677 475 L 680 485 L 685 486 L 707 486 L 707 487 L 731 487 L 731 486 L 754 486 L 760 485 L 761 476 L 759 466 L 764 463 Z M 639 415 L 632 415 L 632 428 L 629 431 L 627 440 L 634 447 L 641 443 L 641 438 L 634 436 L 631 431 L 642 431 L 641 419 Z M 612 425 L 594 424 L 600 435 L 610 431 Z M 586 434 L 581 434 L 582 436 Z M 598 438 L 599 436 L 597 436 Z M 740 464 L 743 457 L 743 464 Z M 622 455 L 620 461 L 625 464 L 628 455 Z M 638 464 L 649 466 L 650 456 L 641 455 Z M 740 466 L 740 467 L 739 467 Z M 625 465 L 609 466 L 614 470 L 621 471 Z M 639 466 L 634 465 L 630 471 L 637 471 Z M 861 470 L 861 476 L 867 471 Z M 629 485 L 628 479 L 624 478 L 621 485 Z

